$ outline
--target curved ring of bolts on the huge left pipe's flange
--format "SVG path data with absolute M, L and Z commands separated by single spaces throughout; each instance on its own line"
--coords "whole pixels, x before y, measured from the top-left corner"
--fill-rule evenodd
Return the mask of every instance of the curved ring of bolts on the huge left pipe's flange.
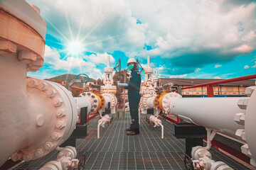
M 41 96 L 45 96 L 47 100 L 53 103 L 53 111 L 50 114 L 55 114 L 55 117 L 52 118 L 55 123 L 52 123 L 55 128 L 46 142 L 43 143 L 40 147 L 33 148 L 31 146 L 21 149 L 20 151 L 13 154 L 12 159 L 16 160 L 23 159 L 29 161 L 31 159 L 37 159 L 48 154 L 52 149 L 60 145 L 63 141 L 63 137 L 68 135 L 68 123 L 67 116 L 67 106 L 65 105 L 65 98 L 63 94 L 60 94 L 60 89 L 56 89 L 50 81 L 43 81 L 41 79 L 28 78 L 27 79 L 27 90 L 33 91 L 33 93 L 38 93 Z M 36 91 L 35 91 L 36 90 Z M 38 115 L 36 118 L 36 125 L 38 128 L 43 127 L 44 125 L 44 116 Z M 50 116 L 50 115 L 49 115 Z M 30 149 L 33 148 L 33 149 Z M 22 157 L 16 157 L 22 155 Z

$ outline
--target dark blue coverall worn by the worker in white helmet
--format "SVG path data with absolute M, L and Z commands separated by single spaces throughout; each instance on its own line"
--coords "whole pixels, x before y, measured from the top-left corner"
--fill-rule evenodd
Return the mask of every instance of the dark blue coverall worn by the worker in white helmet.
M 128 100 L 129 100 L 129 110 L 132 117 L 132 124 L 130 125 L 130 128 L 139 134 L 139 101 L 140 101 L 140 95 L 139 95 L 139 89 L 141 84 L 141 75 L 139 74 L 139 71 L 135 69 L 132 71 L 132 74 L 129 79 L 128 86 L 124 87 L 124 89 L 128 90 Z

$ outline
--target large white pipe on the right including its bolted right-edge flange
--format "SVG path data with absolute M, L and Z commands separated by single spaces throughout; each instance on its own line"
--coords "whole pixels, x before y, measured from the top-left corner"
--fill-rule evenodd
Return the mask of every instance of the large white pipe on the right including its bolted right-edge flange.
M 249 97 L 175 98 L 169 109 L 178 118 L 246 142 L 241 152 L 256 166 L 256 86 L 245 89 Z

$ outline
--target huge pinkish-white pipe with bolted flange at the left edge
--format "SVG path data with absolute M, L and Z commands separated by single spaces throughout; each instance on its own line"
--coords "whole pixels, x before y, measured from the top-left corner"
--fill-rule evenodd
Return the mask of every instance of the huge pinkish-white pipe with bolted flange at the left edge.
M 78 120 L 65 87 L 26 77 L 27 64 L 0 56 L 0 166 L 12 156 L 43 157 L 70 137 Z

